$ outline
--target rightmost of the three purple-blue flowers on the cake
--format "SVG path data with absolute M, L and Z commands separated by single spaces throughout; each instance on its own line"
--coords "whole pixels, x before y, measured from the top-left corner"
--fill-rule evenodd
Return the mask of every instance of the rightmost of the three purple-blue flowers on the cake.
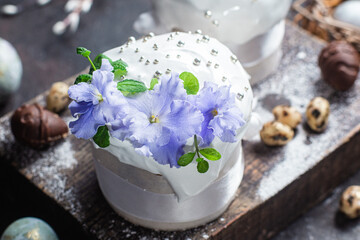
M 205 82 L 204 87 L 189 100 L 203 113 L 201 146 L 208 146 L 215 136 L 223 142 L 236 142 L 236 130 L 245 124 L 241 110 L 235 104 L 235 94 L 230 86 L 218 87 Z

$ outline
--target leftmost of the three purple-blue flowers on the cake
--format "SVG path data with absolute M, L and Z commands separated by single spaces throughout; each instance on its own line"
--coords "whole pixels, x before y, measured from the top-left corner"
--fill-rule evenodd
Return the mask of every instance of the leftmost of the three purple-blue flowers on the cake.
M 117 90 L 112 66 L 107 59 L 93 72 L 91 83 L 79 83 L 69 88 L 73 99 L 69 109 L 77 120 L 69 123 L 71 133 L 78 138 L 92 138 L 100 126 L 126 114 L 126 99 Z

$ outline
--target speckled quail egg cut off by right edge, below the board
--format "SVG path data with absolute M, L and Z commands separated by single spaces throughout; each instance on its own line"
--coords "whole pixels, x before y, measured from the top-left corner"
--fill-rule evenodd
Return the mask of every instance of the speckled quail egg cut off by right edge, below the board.
M 343 192 L 340 211 L 349 218 L 360 217 L 360 186 L 350 186 Z

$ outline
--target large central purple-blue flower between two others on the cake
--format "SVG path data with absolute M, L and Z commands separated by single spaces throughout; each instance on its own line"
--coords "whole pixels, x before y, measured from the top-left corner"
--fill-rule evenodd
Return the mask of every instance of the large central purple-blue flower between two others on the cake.
M 186 100 L 178 74 L 163 76 L 152 91 L 129 98 L 129 139 L 136 150 L 160 164 L 178 166 L 186 140 L 200 133 L 204 117 Z

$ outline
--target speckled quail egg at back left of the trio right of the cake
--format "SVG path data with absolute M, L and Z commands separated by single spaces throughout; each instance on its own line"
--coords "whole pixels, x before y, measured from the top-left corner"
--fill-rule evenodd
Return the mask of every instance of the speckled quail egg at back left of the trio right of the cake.
M 301 122 L 301 114 L 294 107 L 278 105 L 273 109 L 275 120 L 288 125 L 291 128 L 296 128 Z

